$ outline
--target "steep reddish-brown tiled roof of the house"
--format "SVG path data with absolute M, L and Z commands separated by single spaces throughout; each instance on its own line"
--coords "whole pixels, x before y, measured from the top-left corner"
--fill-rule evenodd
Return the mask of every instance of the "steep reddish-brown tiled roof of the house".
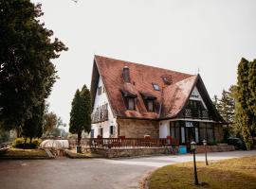
M 130 83 L 125 83 L 122 77 L 124 66 L 130 70 Z M 185 105 L 196 76 L 174 72 L 167 69 L 137 64 L 124 60 L 114 60 L 95 56 L 92 75 L 91 93 L 96 94 L 97 82 L 101 76 L 113 112 L 120 117 L 135 117 L 143 119 L 157 119 L 160 117 L 174 117 Z M 172 84 L 166 85 L 163 77 L 172 78 Z M 155 91 L 152 83 L 156 83 L 160 91 Z M 137 94 L 136 111 L 127 111 L 121 91 Z M 147 112 L 142 95 L 156 97 L 155 112 Z M 93 100 L 94 102 L 94 97 Z

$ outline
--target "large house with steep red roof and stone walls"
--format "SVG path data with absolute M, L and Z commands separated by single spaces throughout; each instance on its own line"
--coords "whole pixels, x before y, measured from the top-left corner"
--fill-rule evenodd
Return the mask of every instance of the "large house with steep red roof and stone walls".
M 95 56 L 91 137 L 223 140 L 224 119 L 200 75 Z

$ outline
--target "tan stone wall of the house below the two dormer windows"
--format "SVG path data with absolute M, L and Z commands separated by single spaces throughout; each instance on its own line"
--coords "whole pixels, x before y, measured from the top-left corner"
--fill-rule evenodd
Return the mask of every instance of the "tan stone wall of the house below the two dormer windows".
M 119 136 L 126 138 L 143 138 L 150 135 L 159 138 L 159 122 L 152 120 L 118 119 Z

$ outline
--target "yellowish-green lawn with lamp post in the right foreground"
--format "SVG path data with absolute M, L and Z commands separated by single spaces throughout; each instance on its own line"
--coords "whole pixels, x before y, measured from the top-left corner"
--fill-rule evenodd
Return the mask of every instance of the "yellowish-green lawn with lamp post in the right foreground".
M 193 185 L 192 163 L 167 165 L 149 178 L 149 189 L 256 189 L 256 156 L 219 162 L 197 163 L 200 185 Z

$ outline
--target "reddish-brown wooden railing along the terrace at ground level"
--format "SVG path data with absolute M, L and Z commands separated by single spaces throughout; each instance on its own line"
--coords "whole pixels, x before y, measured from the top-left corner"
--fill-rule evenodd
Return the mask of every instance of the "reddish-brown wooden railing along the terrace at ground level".
M 76 141 L 69 140 L 69 146 L 75 147 Z M 90 148 L 127 148 L 178 146 L 178 140 L 165 138 L 91 138 L 82 139 L 81 146 Z

